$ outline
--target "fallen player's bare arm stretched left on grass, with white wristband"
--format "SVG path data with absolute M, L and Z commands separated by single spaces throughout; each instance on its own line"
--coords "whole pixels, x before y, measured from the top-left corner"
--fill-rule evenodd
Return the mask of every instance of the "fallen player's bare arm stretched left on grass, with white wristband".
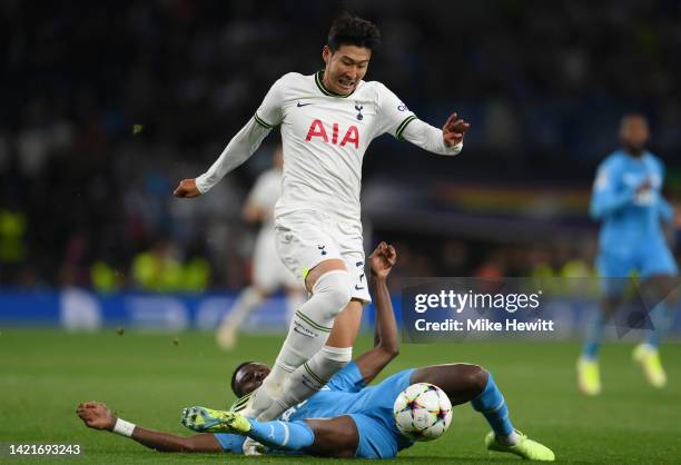
M 114 433 L 118 417 L 100 402 L 85 402 L 76 414 L 88 428 Z M 135 426 L 129 436 L 139 444 L 159 452 L 223 452 L 213 434 L 178 436 Z

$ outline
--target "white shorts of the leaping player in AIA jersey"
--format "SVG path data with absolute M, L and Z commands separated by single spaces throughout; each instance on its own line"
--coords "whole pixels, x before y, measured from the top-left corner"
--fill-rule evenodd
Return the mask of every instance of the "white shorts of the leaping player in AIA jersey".
M 372 301 L 364 274 L 362 224 L 340 221 L 313 210 L 275 219 L 276 245 L 284 265 L 305 285 L 305 277 L 319 263 L 332 258 L 345 261 L 351 277 L 351 296 Z

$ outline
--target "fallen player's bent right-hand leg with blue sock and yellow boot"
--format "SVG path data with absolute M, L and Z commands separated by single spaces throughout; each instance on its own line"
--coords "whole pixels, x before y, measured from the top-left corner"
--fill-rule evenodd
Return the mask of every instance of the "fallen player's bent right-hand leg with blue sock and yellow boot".
M 409 383 L 431 383 L 443 389 L 452 405 L 470 402 L 480 412 L 492 431 L 485 437 L 490 451 L 507 452 L 533 461 L 554 461 L 553 452 L 530 439 L 513 427 L 509 407 L 494 378 L 477 365 L 436 365 L 415 370 Z

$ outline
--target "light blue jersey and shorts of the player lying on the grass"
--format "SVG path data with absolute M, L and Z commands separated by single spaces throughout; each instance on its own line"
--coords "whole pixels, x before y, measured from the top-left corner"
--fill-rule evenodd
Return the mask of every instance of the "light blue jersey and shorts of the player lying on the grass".
M 393 404 L 409 386 L 413 369 L 399 372 L 375 386 L 366 387 L 359 368 L 352 362 L 336 373 L 317 394 L 286 410 L 284 422 L 307 418 L 334 418 L 349 415 L 357 426 L 359 443 L 356 456 L 389 458 L 413 443 L 395 428 Z M 243 436 L 216 434 L 226 452 L 240 453 Z

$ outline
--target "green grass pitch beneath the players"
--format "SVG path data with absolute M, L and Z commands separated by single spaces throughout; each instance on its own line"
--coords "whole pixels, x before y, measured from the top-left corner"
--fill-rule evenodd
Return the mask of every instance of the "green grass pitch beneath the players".
M 177 337 L 177 339 L 176 339 Z M 188 433 L 179 414 L 188 405 L 227 406 L 237 362 L 270 362 L 282 337 L 249 336 L 224 354 L 213 335 L 149 335 L 115 330 L 66 334 L 3 328 L 0 334 L 0 443 L 77 443 L 79 457 L 0 456 L 0 463 L 300 463 L 340 461 L 226 455 L 161 454 L 112 434 L 87 429 L 75 414 L 82 400 L 102 400 L 121 417 L 155 428 Z M 369 346 L 358 342 L 355 354 Z M 681 345 L 664 346 L 669 386 L 649 387 L 631 363 L 631 345 L 608 345 L 602 356 L 603 394 L 575 389 L 574 343 L 464 343 L 405 345 L 385 370 L 446 362 L 490 369 L 517 428 L 552 447 L 563 463 L 681 463 Z M 487 453 L 483 417 L 470 406 L 454 409 L 447 434 L 404 451 L 392 463 L 499 463 L 515 456 Z M 354 461 L 356 462 L 356 461 Z

